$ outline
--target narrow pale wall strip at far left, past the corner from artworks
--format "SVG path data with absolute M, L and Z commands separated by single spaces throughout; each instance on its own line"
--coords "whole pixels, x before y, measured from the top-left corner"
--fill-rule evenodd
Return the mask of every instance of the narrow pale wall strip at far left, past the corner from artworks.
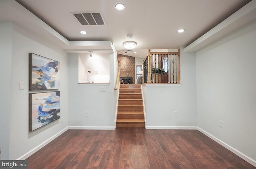
M 10 106 L 11 106 L 11 61 L 12 61 L 12 23 L 0 22 L 0 148 L 1 159 L 9 159 L 10 146 Z

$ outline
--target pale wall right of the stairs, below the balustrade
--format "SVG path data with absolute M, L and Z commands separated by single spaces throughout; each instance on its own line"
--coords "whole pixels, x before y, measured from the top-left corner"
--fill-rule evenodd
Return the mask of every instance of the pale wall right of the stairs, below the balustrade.
M 180 49 L 181 86 L 143 86 L 147 128 L 196 126 L 196 59 Z M 174 117 L 174 111 L 178 116 Z

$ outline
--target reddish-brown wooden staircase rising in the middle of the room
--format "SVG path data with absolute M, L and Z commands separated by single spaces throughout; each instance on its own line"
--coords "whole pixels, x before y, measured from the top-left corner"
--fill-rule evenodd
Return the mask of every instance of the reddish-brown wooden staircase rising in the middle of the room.
M 116 127 L 145 127 L 140 85 L 120 85 Z

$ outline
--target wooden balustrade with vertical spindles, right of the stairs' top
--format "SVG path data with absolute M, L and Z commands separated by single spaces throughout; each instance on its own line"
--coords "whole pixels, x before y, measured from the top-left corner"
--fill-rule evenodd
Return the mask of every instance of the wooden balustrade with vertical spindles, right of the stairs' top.
M 143 60 L 143 83 L 180 83 L 178 52 L 150 52 Z

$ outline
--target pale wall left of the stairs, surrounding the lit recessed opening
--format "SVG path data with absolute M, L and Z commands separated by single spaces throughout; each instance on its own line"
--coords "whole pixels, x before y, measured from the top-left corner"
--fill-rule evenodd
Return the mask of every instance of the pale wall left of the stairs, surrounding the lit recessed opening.
M 114 127 L 114 54 L 108 54 L 108 67 L 111 67 L 110 84 L 90 84 L 78 86 L 78 54 L 69 55 L 69 126 L 81 128 Z M 116 75 L 116 74 L 115 74 Z M 102 92 L 104 88 L 106 91 Z M 86 116 L 89 112 L 89 116 Z

